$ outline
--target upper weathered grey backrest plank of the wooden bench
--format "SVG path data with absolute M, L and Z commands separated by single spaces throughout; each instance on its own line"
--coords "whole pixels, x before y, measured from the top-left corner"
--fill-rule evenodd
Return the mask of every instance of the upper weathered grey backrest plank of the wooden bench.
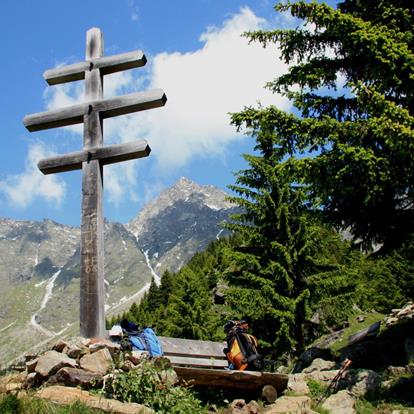
M 226 342 L 199 341 L 194 339 L 159 337 L 166 355 L 192 355 L 194 357 L 225 358 Z

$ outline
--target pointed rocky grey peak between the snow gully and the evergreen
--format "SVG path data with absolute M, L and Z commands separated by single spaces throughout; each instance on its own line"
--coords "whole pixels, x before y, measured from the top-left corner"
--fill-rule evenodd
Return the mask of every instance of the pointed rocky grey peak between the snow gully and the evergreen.
M 211 240 L 226 234 L 220 223 L 236 211 L 226 196 L 216 187 L 181 178 L 127 227 L 157 273 L 177 271 Z

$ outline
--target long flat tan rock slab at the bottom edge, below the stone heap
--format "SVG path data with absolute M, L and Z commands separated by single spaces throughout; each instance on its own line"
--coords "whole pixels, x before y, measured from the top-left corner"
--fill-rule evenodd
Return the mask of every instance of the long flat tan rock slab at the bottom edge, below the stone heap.
M 154 410 L 136 403 L 122 403 L 116 400 L 89 395 L 79 388 L 63 387 L 60 385 L 46 387 L 36 393 L 39 398 L 45 398 L 56 404 L 68 405 L 81 401 L 91 408 L 96 408 L 111 414 L 155 414 Z

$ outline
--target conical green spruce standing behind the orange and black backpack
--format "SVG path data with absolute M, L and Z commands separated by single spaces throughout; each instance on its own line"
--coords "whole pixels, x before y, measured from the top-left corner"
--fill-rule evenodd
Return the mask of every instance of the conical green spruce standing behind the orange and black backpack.
M 303 189 L 292 183 L 269 126 L 262 122 L 255 135 L 258 155 L 245 155 L 250 168 L 229 186 L 239 194 L 231 199 L 243 211 L 227 227 L 241 234 L 243 242 L 228 252 L 226 277 L 233 285 L 228 300 L 240 316 L 249 317 L 254 333 L 269 347 L 301 351 L 312 228 Z

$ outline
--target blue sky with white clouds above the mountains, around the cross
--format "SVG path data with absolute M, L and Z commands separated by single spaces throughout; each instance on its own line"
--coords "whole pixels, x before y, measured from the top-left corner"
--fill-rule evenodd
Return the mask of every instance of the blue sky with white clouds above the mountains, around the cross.
M 248 45 L 249 29 L 294 27 L 267 0 L 4 0 L 0 5 L 0 216 L 79 225 L 81 172 L 43 176 L 37 161 L 82 148 L 81 126 L 29 133 L 25 115 L 83 99 L 82 82 L 48 87 L 42 74 L 80 62 L 99 27 L 105 55 L 143 50 L 145 68 L 105 77 L 105 96 L 162 88 L 164 108 L 104 121 L 105 144 L 147 139 L 146 159 L 105 167 L 105 217 L 126 223 L 181 176 L 225 189 L 251 139 L 228 112 L 284 98 L 263 89 L 286 70 L 276 49 Z

